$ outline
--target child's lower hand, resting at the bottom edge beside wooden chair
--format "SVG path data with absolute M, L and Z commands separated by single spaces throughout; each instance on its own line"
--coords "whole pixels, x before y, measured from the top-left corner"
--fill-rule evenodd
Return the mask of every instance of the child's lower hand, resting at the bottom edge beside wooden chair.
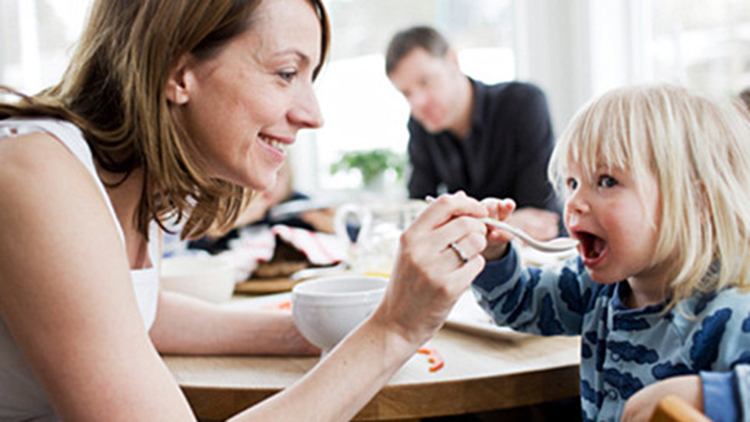
M 651 384 L 633 394 L 625 403 L 622 422 L 648 421 L 659 401 L 668 395 L 680 396 L 703 411 L 703 389 L 698 375 L 682 375 Z

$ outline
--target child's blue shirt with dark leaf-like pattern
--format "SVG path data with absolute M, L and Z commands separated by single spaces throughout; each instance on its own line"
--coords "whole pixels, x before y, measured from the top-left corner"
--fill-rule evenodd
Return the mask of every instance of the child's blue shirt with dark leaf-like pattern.
M 750 294 L 736 288 L 628 309 L 627 282 L 595 283 L 580 258 L 560 268 L 522 267 L 512 247 L 474 280 L 479 304 L 500 325 L 540 335 L 581 336 L 584 421 L 619 421 L 646 385 L 750 363 Z

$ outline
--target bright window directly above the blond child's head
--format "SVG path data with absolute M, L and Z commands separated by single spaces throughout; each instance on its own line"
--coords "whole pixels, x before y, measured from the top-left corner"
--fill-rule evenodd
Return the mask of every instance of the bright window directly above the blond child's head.
M 750 2 L 618 0 L 590 7 L 594 94 L 663 81 L 735 97 L 750 86 Z

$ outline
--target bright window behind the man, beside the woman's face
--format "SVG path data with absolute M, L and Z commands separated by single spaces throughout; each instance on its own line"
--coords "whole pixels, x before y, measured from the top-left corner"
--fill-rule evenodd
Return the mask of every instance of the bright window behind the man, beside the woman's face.
M 406 153 L 409 106 L 386 77 L 384 63 L 397 31 L 432 25 L 459 52 L 466 74 L 488 83 L 513 79 L 512 6 L 512 0 L 327 1 L 332 51 L 316 82 L 325 125 L 301 136 L 293 150 L 297 187 L 309 193 L 356 189 L 357 179 L 328 170 L 345 151 Z

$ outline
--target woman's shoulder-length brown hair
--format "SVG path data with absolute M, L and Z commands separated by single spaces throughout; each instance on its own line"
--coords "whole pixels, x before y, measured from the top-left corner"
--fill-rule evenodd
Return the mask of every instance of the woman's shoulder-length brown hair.
M 183 55 L 211 58 L 252 27 L 261 1 L 273 0 L 97 0 L 62 81 L 34 96 L 16 93 L 17 103 L 0 103 L 0 119 L 49 116 L 74 123 L 97 164 L 122 175 L 118 183 L 143 168 L 135 218 L 145 236 L 151 220 L 162 224 L 173 215 L 187 216 L 187 238 L 226 228 L 248 192 L 198 170 L 199 157 L 165 87 Z M 323 35 L 317 76 L 330 28 L 321 1 L 309 1 Z

